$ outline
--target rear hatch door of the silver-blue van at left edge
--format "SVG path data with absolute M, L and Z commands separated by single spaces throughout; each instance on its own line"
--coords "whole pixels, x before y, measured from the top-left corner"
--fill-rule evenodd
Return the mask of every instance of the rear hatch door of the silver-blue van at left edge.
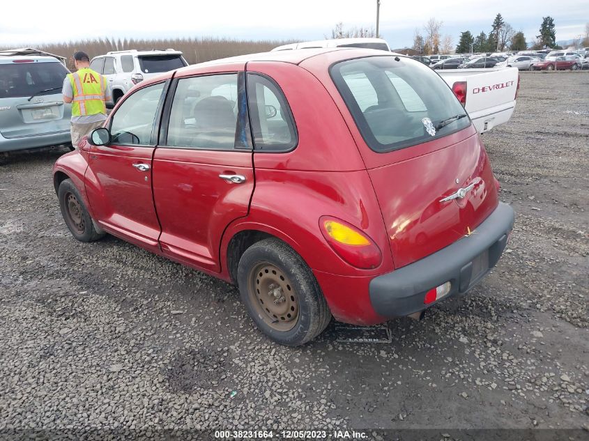
M 6 61 L 0 64 L 0 134 L 19 138 L 70 130 L 71 106 L 61 94 L 68 70 L 57 60 Z

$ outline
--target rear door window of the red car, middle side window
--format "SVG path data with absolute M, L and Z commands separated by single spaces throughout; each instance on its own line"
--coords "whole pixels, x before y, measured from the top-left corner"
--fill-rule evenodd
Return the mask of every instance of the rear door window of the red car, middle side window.
M 166 145 L 232 149 L 238 118 L 238 75 L 178 80 L 171 104 Z

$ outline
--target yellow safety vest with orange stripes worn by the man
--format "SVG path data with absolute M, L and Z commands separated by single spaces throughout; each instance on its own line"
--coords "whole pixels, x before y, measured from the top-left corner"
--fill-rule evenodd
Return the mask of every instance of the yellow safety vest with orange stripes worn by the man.
M 74 98 L 72 116 L 106 114 L 105 91 L 107 80 L 90 68 L 68 74 Z

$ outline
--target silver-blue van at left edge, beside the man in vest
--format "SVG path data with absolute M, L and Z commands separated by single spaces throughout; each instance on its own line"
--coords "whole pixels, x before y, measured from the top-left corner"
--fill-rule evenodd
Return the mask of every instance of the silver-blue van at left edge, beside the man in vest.
M 71 145 L 72 106 L 61 94 L 68 73 L 44 52 L 0 52 L 0 152 Z

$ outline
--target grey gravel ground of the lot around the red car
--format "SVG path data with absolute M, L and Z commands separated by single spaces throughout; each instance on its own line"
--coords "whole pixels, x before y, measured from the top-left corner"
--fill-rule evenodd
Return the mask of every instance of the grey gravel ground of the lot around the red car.
M 588 86 L 521 75 L 512 121 L 483 137 L 517 212 L 510 245 L 463 299 L 391 321 L 391 343 L 340 343 L 333 323 L 303 348 L 270 343 L 234 287 L 74 240 L 51 181 L 65 150 L 0 157 L 0 434 L 589 430 Z

